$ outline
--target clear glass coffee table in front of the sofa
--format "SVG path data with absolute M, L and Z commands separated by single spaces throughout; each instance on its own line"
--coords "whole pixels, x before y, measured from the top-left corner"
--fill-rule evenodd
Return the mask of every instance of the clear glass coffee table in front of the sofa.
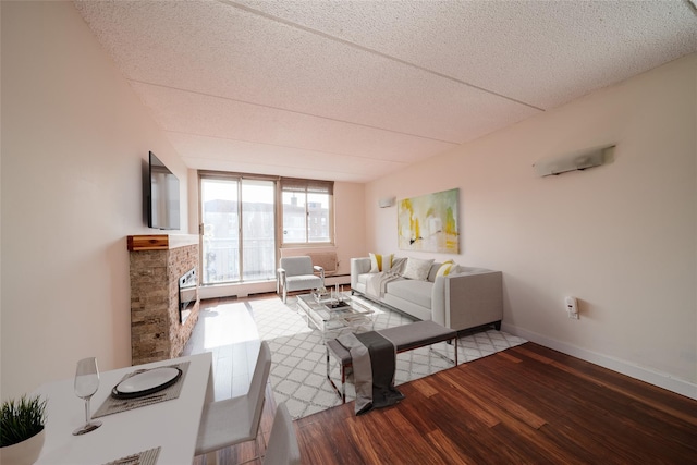
M 350 293 L 332 298 L 328 294 L 318 297 L 315 294 L 302 294 L 297 297 L 297 306 L 307 317 L 307 326 L 327 333 L 344 330 L 351 332 L 370 331 L 375 325 L 372 308 L 354 298 Z

